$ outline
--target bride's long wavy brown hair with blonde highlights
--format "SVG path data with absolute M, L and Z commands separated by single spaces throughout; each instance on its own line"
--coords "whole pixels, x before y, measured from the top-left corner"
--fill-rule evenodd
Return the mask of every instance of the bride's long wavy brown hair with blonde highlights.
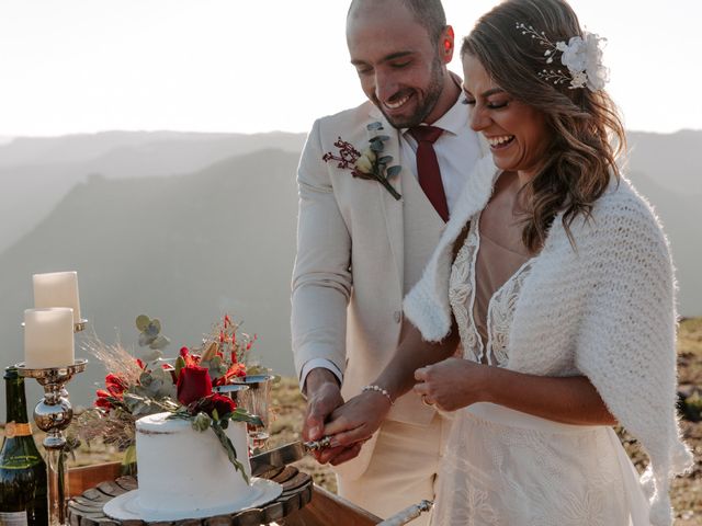
M 546 117 L 552 141 L 535 176 L 524 188 L 531 203 L 522 240 L 530 251 L 543 247 L 554 218 L 563 211 L 563 226 L 574 243 L 570 225 L 590 217 L 595 202 L 612 175 L 620 178 L 616 160 L 626 148 L 622 121 L 603 90 L 570 89 L 539 76 L 547 65 L 544 47 L 522 34 L 517 24 L 544 32 L 551 42 L 568 43 L 582 36 L 578 18 L 563 0 L 507 0 L 483 15 L 463 41 L 461 55 L 476 57 L 490 78 L 516 100 Z M 559 57 L 556 59 L 559 62 Z M 561 69 L 566 69 L 561 67 Z

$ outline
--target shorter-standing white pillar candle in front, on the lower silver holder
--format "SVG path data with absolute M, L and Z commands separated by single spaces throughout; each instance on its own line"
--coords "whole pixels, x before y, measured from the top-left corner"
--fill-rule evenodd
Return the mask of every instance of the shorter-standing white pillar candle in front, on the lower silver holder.
M 24 311 L 24 366 L 65 367 L 76 362 L 73 311 L 66 307 Z

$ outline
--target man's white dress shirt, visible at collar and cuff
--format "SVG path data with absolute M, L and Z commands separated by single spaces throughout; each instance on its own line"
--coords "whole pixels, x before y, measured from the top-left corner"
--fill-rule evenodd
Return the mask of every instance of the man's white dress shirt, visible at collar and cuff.
M 444 129 L 433 146 L 441 170 L 441 182 L 446 195 L 449 214 L 461 195 L 463 184 L 473 170 L 473 165 L 482 155 L 478 135 L 468 126 L 468 111 L 462 101 L 463 94 L 441 118 L 432 123 L 432 126 Z M 408 163 L 410 172 L 417 178 L 417 141 L 409 134 L 408 128 L 400 129 L 399 142 L 401 158 L 410 160 Z M 405 163 L 403 162 L 403 164 Z M 317 367 L 331 370 L 339 384 L 342 382 L 343 374 L 332 362 L 325 358 L 313 358 L 305 363 L 299 373 L 299 387 L 303 393 L 307 375 Z

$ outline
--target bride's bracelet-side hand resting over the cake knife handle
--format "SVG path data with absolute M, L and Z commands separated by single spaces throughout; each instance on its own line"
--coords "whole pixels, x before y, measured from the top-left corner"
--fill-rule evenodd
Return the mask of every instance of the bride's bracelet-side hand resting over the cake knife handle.
M 331 436 L 331 447 L 363 443 L 378 430 L 389 410 L 390 402 L 384 395 L 364 391 L 331 413 L 330 422 L 325 425 L 325 435 Z M 341 462 L 331 460 L 331 464 Z

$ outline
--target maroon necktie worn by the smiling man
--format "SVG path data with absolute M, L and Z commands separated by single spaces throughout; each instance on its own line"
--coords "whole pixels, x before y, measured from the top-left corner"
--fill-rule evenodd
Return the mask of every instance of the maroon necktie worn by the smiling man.
M 449 205 L 443 192 L 439 161 L 434 151 L 434 141 L 443 134 L 443 129 L 434 126 L 416 126 L 409 133 L 417 140 L 417 176 L 419 185 L 434 206 L 441 218 L 449 220 Z

